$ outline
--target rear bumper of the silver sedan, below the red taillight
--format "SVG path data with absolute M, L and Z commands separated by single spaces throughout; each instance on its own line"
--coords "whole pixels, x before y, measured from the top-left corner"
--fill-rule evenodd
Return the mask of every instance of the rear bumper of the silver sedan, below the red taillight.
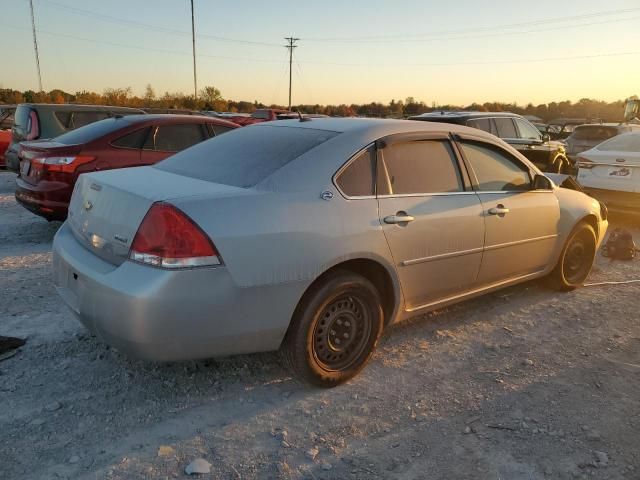
M 115 266 L 80 245 L 67 223 L 53 252 L 56 289 L 80 322 L 104 342 L 146 360 L 276 350 L 304 289 L 240 288 L 225 267 Z

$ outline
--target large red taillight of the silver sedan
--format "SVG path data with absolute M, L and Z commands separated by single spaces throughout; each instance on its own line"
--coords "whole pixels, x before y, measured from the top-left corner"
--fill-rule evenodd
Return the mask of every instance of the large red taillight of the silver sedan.
M 189 217 L 168 203 L 154 203 L 131 244 L 129 258 L 163 268 L 220 265 L 213 242 Z

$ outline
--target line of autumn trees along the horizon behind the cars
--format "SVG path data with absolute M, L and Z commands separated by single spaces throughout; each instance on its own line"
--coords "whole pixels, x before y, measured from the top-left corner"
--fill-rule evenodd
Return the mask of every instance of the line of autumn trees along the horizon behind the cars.
M 165 92 L 157 95 L 151 85 L 147 85 L 142 96 L 134 95 L 131 87 L 107 88 L 102 93 L 83 90 L 68 93 L 54 89 L 50 92 L 18 91 L 0 88 L 0 104 L 16 103 L 80 103 L 90 105 L 117 105 L 137 108 L 180 108 L 190 110 L 215 110 L 218 112 L 251 113 L 258 108 L 285 108 L 282 105 L 266 105 L 258 101 L 236 101 L 223 98 L 220 90 L 213 86 L 203 88 L 195 98 L 184 93 Z M 550 102 L 539 105 L 528 103 L 485 102 L 470 105 L 431 105 L 408 97 L 404 100 L 391 100 L 384 104 L 371 102 L 367 104 L 341 105 L 296 105 L 293 110 L 303 113 L 320 113 L 330 116 L 367 116 L 384 118 L 405 118 L 424 112 L 439 110 L 470 110 L 482 112 L 514 112 L 521 115 L 535 115 L 544 121 L 556 118 L 591 118 L 606 121 L 621 121 L 624 101 L 604 102 L 583 98 L 577 102 L 569 100 Z

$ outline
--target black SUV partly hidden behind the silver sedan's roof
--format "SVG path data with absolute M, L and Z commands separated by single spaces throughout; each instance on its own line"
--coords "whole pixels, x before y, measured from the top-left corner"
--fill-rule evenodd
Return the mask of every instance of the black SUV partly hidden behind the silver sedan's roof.
M 551 141 L 531 122 L 515 113 L 495 112 L 431 112 L 410 117 L 410 120 L 467 125 L 500 137 L 514 147 L 543 172 L 568 173 L 572 166 L 564 145 Z

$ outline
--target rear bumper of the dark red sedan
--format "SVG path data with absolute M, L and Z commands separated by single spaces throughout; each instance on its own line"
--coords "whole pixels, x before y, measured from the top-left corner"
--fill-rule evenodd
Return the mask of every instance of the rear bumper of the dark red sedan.
M 31 185 L 22 178 L 16 178 L 15 197 L 27 210 L 47 220 L 67 218 L 72 188 L 60 182 L 40 182 Z

